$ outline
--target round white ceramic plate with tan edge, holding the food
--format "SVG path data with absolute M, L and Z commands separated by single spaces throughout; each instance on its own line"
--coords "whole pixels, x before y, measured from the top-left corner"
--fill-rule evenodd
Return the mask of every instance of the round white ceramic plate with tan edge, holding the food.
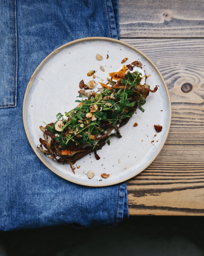
M 95 56 L 98 53 L 102 55 L 102 61 L 96 60 Z M 98 78 L 96 77 L 95 81 L 102 82 L 101 79 L 104 79 L 105 82 L 108 73 L 118 70 L 125 57 L 129 58 L 125 64 L 139 59 L 144 65 L 146 74 L 151 74 L 147 84 L 151 89 L 155 85 L 160 87 L 156 93 L 150 92 L 143 106 L 144 113 L 137 109 L 137 114 L 133 114 L 129 122 L 120 128 L 122 138 L 111 135 L 110 145 L 107 144 L 97 151 L 101 157 L 98 161 L 94 153 L 77 160 L 75 166 L 81 167 L 76 168 L 74 174 L 69 164 L 58 164 L 36 148 L 40 144 L 39 138 L 43 137 L 39 126 L 44 125 L 42 121 L 45 123 L 55 121 L 59 112 L 64 114 L 77 106 L 75 100 L 78 96 L 79 82 L 83 79 L 86 84 L 93 79 L 87 77 L 88 71 L 97 71 Z M 100 65 L 105 68 L 105 72 L 100 70 Z M 96 86 L 101 87 L 99 84 Z M 34 152 L 51 171 L 77 184 L 113 185 L 139 174 L 152 163 L 162 149 L 170 129 L 170 96 L 161 73 L 140 50 L 115 39 L 84 38 L 54 50 L 34 71 L 25 93 L 23 121 Z M 133 127 L 135 122 L 138 123 L 137 127 Z M 155 124 L 163 126 L 162 132 L 156 133 Z M 151 143 L 153 140 L 154 142 Z M 95 173 L 92 179 L 87 177 L 89 170 Z M 110 174 L 110 177 L 101 178 L 102 173 Z

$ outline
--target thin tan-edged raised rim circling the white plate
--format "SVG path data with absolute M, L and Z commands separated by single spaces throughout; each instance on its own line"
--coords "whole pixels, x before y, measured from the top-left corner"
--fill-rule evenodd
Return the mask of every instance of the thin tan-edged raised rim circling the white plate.
M 37 147 L 36 145 L 33 145 L 33 143 L 31 142 L 31 138 L 29 137 L 29 133 L 28 133 L 28 127 L 27 127 L 27 122 L 26 122 L 26 98 L 27 98 L 27 93 L 30 89 L 30 87 L 33 85 L 33 82 L 34 82 L 34 78 L 36 76 L 36 74 L 38 73 L 38 71 L 41 69 L 41 67 L 43 66 L 43 64 L 48 60 L 48 58 L 50 58 L 52 55 L 54 55 L 55 53 L 57 53 L 59 50 L 63 49 L 64 47 L 67 47 L 67 46 L 71 46 L 75 43 L 80 43 L 80 42 L 85 42 L 85 41 L 97 41 L 97 40 L 102 40 L 102 41 L 108 41 L 108 42 L 116 42 L 116 43 L 120 43 L 122 45 L 125 45 L 125 46 L 128 46 L 129 48 L 137 51 L 138 53 L 140 53 L 144 58 L 146 58 L 150 64 L 153 65 L 153 67 L 155 68 L 155 70 L 157 71 L 157 73 L 159 74 L 162 82 L 163 82 L 163 85 L 165 87 L 165 90 L 166 90 L 166 93 L 167 93 L 167 97 L 168 97 L 168 102 L 169 102 L 169 108 L 170 108 L 170 112 L 169 112 L 169 123 L 168 123 L 168 128 L 167 128 L 167 132 L 166 132 L 166 135 L 163 139 L 163 143 L 161 144 L 160 148 L 158 149 L 157 153 L 155 154 L 155 156 L 153 157 L 152 161 L 148 164 L 146 164 L 144 166 L 144 168 L 142 168 L 141 171 L 137 172 L 136 174 L 133 174 L 133 175 L 130 175 L 128 178 L 123 178 L 122 180 L 120 180 L 119 182 L 116 181 L 116 182 L 112 182 L 110 184 L 99 184 L 99 185 L 88 185 L 84 182 L 79 182 L 79 181 L 76 181 L 75 179 L 73 178 L 68 178 L 68 177 L 65 177 L 62 173 L 56 173 L 56 171 L 54 170 L 54 168 L 48 164 L 48 162 L 44 159 L 44 157 L 42 156 L 42 154 L 40 153 L 39 150 L 37 150 Z M 95 36 L 95 37 L 84 37 L 84 38 L 80 38 L 80 39 L 77 39 L 77 40 L 74 40 L 74 41 L 71 41 L 69 43 L 65 43 L 63 45 L 61 45 L 60 47 L 58 47 L 57 49 L 55 49 L 54 51 L 52 51 L 47 57 L 45 57 L 41 63 L 37 66 L 37 68 L 35 69 L 33 75 L 31 76 L 29 82 L 28 82 L 28 85 L 27 85 L 27 88 L 26 88 L 26 91 L 25 91 L 25 95 L 24 95 L 24 100 L 23 100 L 23 109 L 22 109 L 22 114 L 23 114 L 23 125 L 24 125 L 24 129 L 25 129 L 25 132 L 26 132 L 26 136 L 27 136 L 27 139 L 28 139 L 28 142 L 30 143 L 32 149 L 34 150 L 34 153 L 36 154 L 36 156 L 38 156 L 38 158 L 41 160 L 41 162 L 43 164 L 45 164 L 48 169 L 50 171 L 53 171 L 57 176 L 61 177 L 61 178 L 64 178 L 68 181 L 71 181 L 75 184 L 79 184 L 79 185 L 84 185 L 84 186 L 91 186 L 91 187 L 104 187 L 104 186 L 111 186 L 111 185 L 116 185 L 116 184 L 120 184 L 124 181 L 127 181 L 135 176 L 137 176 L 138 174 L 140 174 L 142 171 L 144 171 L 156 158 L 156 156 L 158 156 L 158 154 L 161 152 L 162 148 L 163 148 L 163 145 L 164 143 L 166 142 L 166 139 L 167 139 L 167 136 L 169 134 L 169 131 L 170 131 L 170 124 L 171 124 L 171 115 L 172 115 L 172 110 L 171 110 L 171 101 L 170 101 L 170 93 L 169 93 L 169 90 L 168 90 L 168 87 L 164 81 L 164 78 L 161 74 L 161 72 L 158 70 L 158 68 L 156 67 L 156 65 L 153 63 L 153 61 L 150 60 L 149 57 L 147 57 L 141 50 L 137 49 L 136 47 L 132 46 L 131 44 L 129 43 L 126 43 L 126 42 L 123 42 L 123 41 L 120 41 L 120 40 L 117 40 L 117 39 L 113 39 L 113 38 L 109 38 L 109 37 L 100 37 L 100 36 Z

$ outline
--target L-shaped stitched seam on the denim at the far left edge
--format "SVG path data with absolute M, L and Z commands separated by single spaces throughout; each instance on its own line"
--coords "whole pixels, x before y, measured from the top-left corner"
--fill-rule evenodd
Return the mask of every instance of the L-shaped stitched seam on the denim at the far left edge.
M 17 84 L 17 21 L 16 21 L 16 0 L 14 0 L 14 41 L 15 41 L 15 75 L 14 75 L 14 104 L 2 105 L 0 107 L 15 107 L 16 106 L 16 84 Z

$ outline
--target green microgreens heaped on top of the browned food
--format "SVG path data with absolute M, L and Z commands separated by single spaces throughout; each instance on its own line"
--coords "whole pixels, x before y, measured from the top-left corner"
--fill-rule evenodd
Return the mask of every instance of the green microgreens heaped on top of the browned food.
M 47 129 L 55 134 L 54 141 L 59 143 L 62 149 L 66 149 L 69 142 L 81 145 L 85 143 L 93 144 L 93 148 L 97 146 L 96 136 L 101 136 L 106 128 L 118 125 L 122 120 L 130 118 L 134 114 L 135 106 L 137 105 L 141 111 L 144 111 L 143 105 L 145 104 L 142 93 L 137 88 L 141 81 L 141 73 L 135 71 L 128 73 L 121 79 L 121 84 L 124 85 L 123 89 L 114 88 L 117 86 L 116 82 L 109 81 L 112 85 L 111 90 L 102 89 L 102 92 L 96 97 L 91 99 L 84 99 L 83 95 L 79 95 L 79 102 L 81 106 L 65 112 L 65 116 L 69 117 L 69 121 L 64 119 L 64 115 L 58 113 L 56 115 L 57 121 L 63 121 L 62 130 L 60 132 L 55 130 L 55 124 L 47 125 Z M 114 95 L 112 99 L 110 96 Z M 109 99 L 102 102 L 104 97 Z M 87 118 L 86 114 L 91 111 L 92 106 L 96 104 L 98 109 L 92 114 L 95 119 Z M 83 124 L 83 125 L 81 125 Z M 81 125 L 81 126 L 80 126 Z M 100 128 L 100 131 L 98 130 Z M 78 136 L 77 136 L 78 135 Z M 110 136 L 107 139 L 110 144 Z

